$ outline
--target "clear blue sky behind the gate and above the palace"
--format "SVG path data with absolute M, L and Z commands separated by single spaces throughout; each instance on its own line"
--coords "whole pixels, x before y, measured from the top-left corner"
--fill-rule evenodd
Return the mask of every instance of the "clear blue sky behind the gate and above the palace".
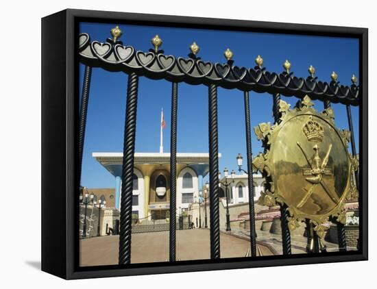
M 90 35 L 91 40 L 105 42 L 110 29 L 117 25 L 81 23 L 80 33 Z M 254 32 L 227 32 L 206 29 L 182 29 L 119 25 L 123 31 L 123 45 L 136 50 L 152 48 L 151 38 L 162 38 L 160 49 L 165 54 L 186 57 L 193 41 L 200 47 L 198 56 L 211 62 L 226 62 L 223 51 L 230 48 L 234 64 L 255 66 L 254 59 L 261 55 L 268 71 L 281 72 L 282 63 L 288 59 L 291 71 L 298 77 L 308 76 L 308 66 L 316 68 L 316 76 L 329 81 L 332 71 L 339 75 L 341 84 L 350 84 L 352 74 L 358 76 L 358 40 L 322 36 L 295 36 L 285 34 L 262 34 Z M 80 95 L 84 66 L 80 64 Z M 127 75 L 110 73 L 93 68 L 90 99 L 86 123 L 82 186 L 88 188 L 114 187 L 114 177 L 92 157 L 93 152 L 123 151 L 125 100 Z M 282 97 L 295 105 L 294 97 Z M 273 122 L 272 97 L 268 94 L 250 92 L 252 127 L 258 123 Z M 158 152 L 160 146 L 160 110 L 164 109 L 164 152 L 170 151 L 171 83 L 165 80 L 139 79 L 138 111 L 136 123 L 136 152 Z M 317 110 L 323 103 L 315 101 Z M 348 129 L 345 105 L 332 104 L 338 127 Z M 358 151 L 358 108 L 352 107 L 352 118 Z M 245 118 L 243 92 L 218 89 L 219 161 L 220 171 L 227 167 L 236 170 L 236 155 L 246 155 Z M 178 140 L 180 153 L 208 153 L 208 88 L 181 83 L 178 86 Z M 263 151 L 252 131 L 253 154 Z M 245 158 L 244 158 L 245 160 Z M 244 166 L 246 169 L 246 166 Z

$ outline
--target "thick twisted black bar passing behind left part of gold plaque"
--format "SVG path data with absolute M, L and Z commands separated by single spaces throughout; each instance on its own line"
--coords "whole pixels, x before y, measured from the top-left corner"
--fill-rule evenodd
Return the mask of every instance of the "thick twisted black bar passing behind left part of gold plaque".
M 280 123 L 280 94 L 273 94 L 272 112 L 275 123 Z M 284 255 L 290 255 L 292 253 L 291 248 L 291 233 L 289 232 L 288 220 L 289 217 L 287 205 L 280 205 L 280 224 L 282 227 L 282 249 Z

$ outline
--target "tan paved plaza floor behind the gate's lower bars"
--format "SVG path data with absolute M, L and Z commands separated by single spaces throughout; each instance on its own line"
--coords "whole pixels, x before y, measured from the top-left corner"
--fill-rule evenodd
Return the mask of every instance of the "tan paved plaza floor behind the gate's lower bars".
M 209 229 L 177 231 L 178 260 L 210 258 Z M 119 236 L 103 236 L 80 240 L 80 266 L 118 264 Z M 245 257 L 250 242 L 230 234 L 220 234 L 221 258 Z M 273 255 L 268 247 L 257 245 L 258 252 Z M 169 259 L 169 231 L 132 234 L 131 263 L 166 262 Z

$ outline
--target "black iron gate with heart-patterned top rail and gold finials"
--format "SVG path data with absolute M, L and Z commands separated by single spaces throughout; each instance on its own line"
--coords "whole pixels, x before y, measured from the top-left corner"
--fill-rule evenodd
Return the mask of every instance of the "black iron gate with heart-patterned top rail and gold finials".
M 131 261 L 131 232 L 132 232 L 132 174 L 134 169 L 134 144 L 136 131 L 136 106 L 138 100 L 138 78 L 166 79 L 171 81 L 171 199 L 169 222 L 169 260 L 175 258 L 175 230 L 176 230 L 176 136 L 177 136 L 177 110 L 178 110 L 178 84 L 203 84 L 208 86 L 208 128 L 209 128 L 209 155 L 210 155 L 210 258 L 220 257 L 220 229 L 219 229 L 219 164 L 218 164 L 218 129 L 217 129 L 217 88 L 236 88 L 244 95 L 245 127 L 247 149 L 247 173 L 249 184 L 250 205 L 250 249 L 252 257 L 257 256 L 256 231 L 254 219 L 253 175 L 252 175 L 252 142 L 250 127 L 250 91 L 267 92 L 273 98 L 273 116 L 275 122 L 280 119 L 280 94 L 304 99 L 306 95 L 311 99 L 324 102 L 324 108 L 329 108 L 331 103 L 342 103 L 348 114 L 348 123 L 351 131 L 352 154 L 356 155 L 354 132 L 350 105 L 359 105 L 359 87 L 356 77 L 352 77 L 351 86 L 343 86 L 337 81 L 337 75 L 332 75 L 328 83 L 319 81 L 315 77 L 313 66 L 309 68 L 310 75 L 306 78 L 296 77 L 290 72 L 291 64 L 284 63 L 282 73 L 271 73 L 263 67 L 263 59 L 256 58 L 254 68 L 235 66 L 232 52 L 227 50 L 225 64 L 205 62 L 197 58 L 199 47 L 193 43 L 189 58 L 165 55 L 159 47 L 162 40 L 156 36 L 152 39 L 154 50 L 145 53 L 135 51 L 132 46 L 123 46 L 119 40 L 121 29 L 114 27 L 111 30 L 112 38 L 105 43 L 91 41 L 88 34 L 80 34 L 80 62 L 86 65 L 82 101 L 80 109 L 80 136 L 79 155 L 80 173 L 84 135 L 86 127 L 86 112 L 88 110 L 88 97 L 92 67 L 104 68 L 107 71 L 122 71 L 128 75 L 127 105 L 125 113 L 124 145 L 123 145 L 123 170 L 121 191 L 121 225 L 119 239 L 119 264 L 130 264 Z M 356 174 L 356 187 L 358 188 L 358 171 Z M 282 246 L 284 255 L 291 254 L 291 238 L 288 221 L 289 212 L 287 205 L 281 205 Z M 337 223 L 339 231 L 339 249 L 345 249 L 345 231 L 341 223 Z M 316 239 L 316 237 L 315 237 Z M 318 249 L 317 249 L 318 251 Z

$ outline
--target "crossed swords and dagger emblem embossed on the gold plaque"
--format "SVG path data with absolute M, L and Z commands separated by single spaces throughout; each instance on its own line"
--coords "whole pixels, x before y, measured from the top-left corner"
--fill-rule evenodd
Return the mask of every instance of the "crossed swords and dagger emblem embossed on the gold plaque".
M 313 177 L 306 177 L 306 181 L 312 184 L 312 186 L 306 190 L 306 194 L 304 195 L 304 198 L 298 203 L 297 208 L 302 208 L 303 205 L 308 201 L 308 199 L 311 197 L 313 194 L 314 189 L 318 186 L 321 185 L 322 188 L 324 188 L 325 192 L 328 194 L 328 196 L 334 201 L 335 203 L 338 203 L 339 197 L 335 192 L 332 192 L 328 186 L 324 183 L 323 177 L 324 175 L 332 175 L 331 171 L 329 168 L 326 168 L 327 163 L 328 163 L 328 157 L 330 155 L 330 151 L 332 148 L 332 144 L 328 147 L 328 151 L 325 155 L 324 160 L 321 163 L 321 158 L 319 158 L 319 147 L 318 145 L 315 145 L 313 147 L 314 149 L 314 162 L 313 164 L 310 162 L 308 155 L 306 155 L 304 149 L 300 145 L 300 142 L 297 142 L 297 146 L 300 147 L 302 153 L 304 154 L 304 157 L 306 159 L 306 162 L 308 162 L 310 168 L 304 168 L 303 174 L 304 175 L 312 175 Z

